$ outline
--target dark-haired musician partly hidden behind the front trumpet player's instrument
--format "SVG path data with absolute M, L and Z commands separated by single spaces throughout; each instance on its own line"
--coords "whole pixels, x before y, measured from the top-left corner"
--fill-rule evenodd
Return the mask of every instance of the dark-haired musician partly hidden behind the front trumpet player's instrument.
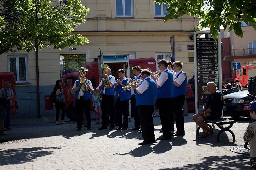
M 135 76 L 132 77 L 132 80 L 130 80 L 130 82 L 140 79 L 141 77 L 140 66 L 132 67 L 132 70 Z M 134 117 L 134 128 L 131 129 L 132 131 L 136 131 L 140 129 L 140 115 L 139 115 L 138 107 L 136 107 L 136 94 L 137 94 L 136 90 L 131 89 L 131 112 L 132 112 L 132 116 Z

